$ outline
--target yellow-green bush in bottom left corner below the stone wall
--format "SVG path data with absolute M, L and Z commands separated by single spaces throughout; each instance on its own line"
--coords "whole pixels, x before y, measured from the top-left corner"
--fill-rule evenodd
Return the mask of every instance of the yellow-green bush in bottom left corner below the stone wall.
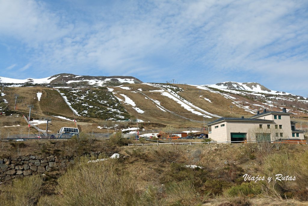
M 13 179 L 0 190 L 2 205 L 35 205 L 42 192 L 43 179 L 38 175 Z

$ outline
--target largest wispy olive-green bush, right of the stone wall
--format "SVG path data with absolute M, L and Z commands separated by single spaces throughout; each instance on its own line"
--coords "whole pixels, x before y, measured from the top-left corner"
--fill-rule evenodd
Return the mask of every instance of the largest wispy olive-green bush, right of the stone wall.
M 59 178 L 63 205 L 138 205 L 135 176 L 124 170 L 117 159 L 80 162 Z

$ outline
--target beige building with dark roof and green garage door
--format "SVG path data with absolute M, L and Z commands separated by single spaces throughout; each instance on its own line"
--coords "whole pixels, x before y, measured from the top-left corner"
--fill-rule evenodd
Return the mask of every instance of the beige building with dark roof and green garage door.
M 207 124 L 209 138 L 221 143 L 255 141 L 256 139 L 304 140 L 304 132 L 296 130 L 290 120 L 290 113 L 283 111 L 266 111 L 250 118 L 223 117 Z

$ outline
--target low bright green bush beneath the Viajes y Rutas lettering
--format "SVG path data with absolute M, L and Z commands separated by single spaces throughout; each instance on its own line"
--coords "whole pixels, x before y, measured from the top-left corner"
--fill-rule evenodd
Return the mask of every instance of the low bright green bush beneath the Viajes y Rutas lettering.
M 237 196 L 248 196 L 254 197 L 255 195 L 261 194 L 261 185 L 254 182 L 245 182 L 240 185 L 235 185 L 227 190 L 224 194 L 231 197 Z

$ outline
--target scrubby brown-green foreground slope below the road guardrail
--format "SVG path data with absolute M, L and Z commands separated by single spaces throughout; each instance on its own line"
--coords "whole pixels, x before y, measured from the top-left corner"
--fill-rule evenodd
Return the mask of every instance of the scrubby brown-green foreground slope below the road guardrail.
M 306 205 L 308 200 L 306 145 L 282 145 L 279 150 L 272 145 L 265 152 L 256 144 L 121 146 L 125 143 L 117 136 L 91 144 L 87 139 L 27 141 L 19 145 L 22 155 L 64 157 L 98 150 L 102 154 L 75 158 L 67 170 L 47 172 L 44 178 L 5 182 L 0 187 L 2 200 L 7 205 L 31 200 L 31 205 L 88 205 L 90 201 L 92 205 L 166 206 Z M 16 144 L 5 143 L 0 158 L 17 155 Z M 87 163 L 113 153 L 120 158 Z M 244 174 L 295 175 L 296 180 L 245 181 Z

